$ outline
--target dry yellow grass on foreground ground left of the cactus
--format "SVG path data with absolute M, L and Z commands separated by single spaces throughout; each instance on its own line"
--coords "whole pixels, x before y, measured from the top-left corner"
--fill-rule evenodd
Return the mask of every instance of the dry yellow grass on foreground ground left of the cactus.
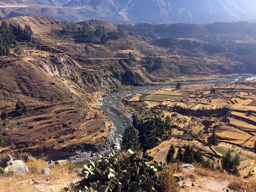
M 49 175 L 42 175 L 41 169 L 46 168 L 43 159 L 26 163 L 28 174 L 14 175 L 1 179 L 0 192 L 35 192 L 35 191 L 63 191 L 71 182 L 76 183 L 81 177 L 70 171 L 76 166 L 73 163 L 57 164 L 52 167 Z M 49 177 L 49 181 L 47 178 Z M 33 179 L 33 180 L 32 180 Z M 36 181 L 36 182 L 35 182 Z M 69 192 L 74 192 L 73 188 Z

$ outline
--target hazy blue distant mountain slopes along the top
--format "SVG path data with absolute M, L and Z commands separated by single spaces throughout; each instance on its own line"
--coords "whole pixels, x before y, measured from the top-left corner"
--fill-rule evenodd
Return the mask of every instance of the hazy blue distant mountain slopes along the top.
M 35 15 L 74 21 L 107 19 L 121 23 L 256 20 L 254 0 L 1 0 L 0 10 L 0 15 L 6 18 Z

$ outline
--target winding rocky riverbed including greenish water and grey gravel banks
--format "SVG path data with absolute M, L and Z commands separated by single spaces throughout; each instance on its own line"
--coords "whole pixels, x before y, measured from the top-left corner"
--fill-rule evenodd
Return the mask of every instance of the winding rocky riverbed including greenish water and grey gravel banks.
M 235 78 L 220 79 L 218 81 L 201 81 L 201 82 L 190 82 L 184 83 L 186 86 L 195 86 L 195 85 L 215 85 L 215 84 L 230 84 L 238 81 L 245 81 L 250 78 L 255 78 L 255 75 L 251 74 L 236 74 Z M 78 153 L 76 156 L 69 157 L 67 160 L 70 160 L 75 163 L 84 162 L 86 160 L 96 160 L 99 158 L 99 155 L 107 155 L 114 149 L 120 150 L 120 142 L 122 140 L 122 134 L 124 133 L 125 126 L 132 125 L 132 114 L 129 111 L 125 111 L 124 105 L 122 104 L 122 99 L 126 96 L 133 95 L 136 93 L 143 93 L 148 90 L 157 90 L 168 87 L 173 87 L 175 84 L 160 84 L 160 85 L 150 85 L 143 87 L 134 87 L 129 90 L 122 90 L 118 92 L 112 92 L 100 96 L 97 99 L 99 108 L 102 109 L 111 119 L 111 122 L 115 122 L 111 128 L 111 137 L 107 143 L 103 145 L 93 146 L 95 150 L 86 150 L 81 153 Z M 117 146 L 118 145 L 118 146 Z

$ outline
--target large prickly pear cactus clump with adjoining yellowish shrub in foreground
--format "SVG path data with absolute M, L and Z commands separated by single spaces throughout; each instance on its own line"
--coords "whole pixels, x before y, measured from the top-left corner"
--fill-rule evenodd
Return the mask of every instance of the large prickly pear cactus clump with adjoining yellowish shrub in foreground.
M 137 154 L 137 149 L 129 149 L 128 153 L 121 156 L 113 152 L 110 157 L 101 156 L 101 160 L 84 165 L 82 172 L 85 176 L 78 188 L 87 192 L 157 192 L 178 189 L 178 185 L 175 185 L 178 181 L 176 177 L 165 172 L 166 163 L 151 163 L 154 158 L 143 153 Z M 164 178 L 170 181 L 166 183 Z

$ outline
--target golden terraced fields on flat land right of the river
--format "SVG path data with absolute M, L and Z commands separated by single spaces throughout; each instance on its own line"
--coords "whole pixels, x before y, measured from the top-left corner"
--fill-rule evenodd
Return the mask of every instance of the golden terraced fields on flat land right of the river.
M 213 160 L 231 149 L 233 155 L 240 155 L 241 169 L 246 174 L 249 167 L 253 170 L 256 168 L 255 86 L 255 81 L 182 86 L 181 89 L 137 93 L 129 101 L 151 112 L 152 116 L 157 114 L 163 119 L 170 116 L 171 124 L 179 127 L 172 131 L 174 138 L 159 141 L 157 146 L 149 150 L 155 158 L 164 160 L 171 143 L 176 148 L 190 143 L 202 148 L 204 156 Z M 215 93 L 211 93 L 213 88 Z

